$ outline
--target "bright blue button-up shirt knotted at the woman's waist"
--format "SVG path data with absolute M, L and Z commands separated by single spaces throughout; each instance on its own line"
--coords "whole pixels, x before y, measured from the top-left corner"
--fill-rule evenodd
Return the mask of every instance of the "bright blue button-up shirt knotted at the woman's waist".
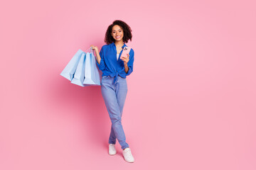
M 122 49 L 127 47 L 124 43 Z M 122 50 L 123 51 L 123 50 Z M 117 47 L 112 42 L 109 45 L 103 45 L 100 50 L 100 64 L 96 61 L 97 67 L 102 71 L 103 76 L 114 77 L 114 82 L 117 80 L 117 76 L 122 78 L 126 78 L 133 71 L 133 63 L 134 63 L 134 50 L 131 48 L 129 51 L 129 62 L 127 62 L 128 72 L 124 71 L 124 61 L 120 59 L 122 55 L 122 51 L 119 53 L 119 57 L 117 60 Z

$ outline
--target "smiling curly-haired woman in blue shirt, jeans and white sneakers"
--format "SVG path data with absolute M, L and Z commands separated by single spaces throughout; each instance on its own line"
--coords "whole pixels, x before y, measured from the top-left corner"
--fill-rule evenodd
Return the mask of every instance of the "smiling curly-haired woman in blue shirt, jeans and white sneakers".
M 105 34 L 106 45 L 103 45 L 100 53 L 97 46 L 91 45 L 97 57 L 97 67 L 102 70 L 101 91 L 105 101 L 107 112 L 112 122 L 109 138 L 109 154 L 117 153 L 114 145 L 116 139 L 121 145 L 124 160 L 134 162 L 131 149 L 127 144 L 122 127 L 122 111 L 127 96 L 126 77 L 133 71 L 134 50 L 131 48 L 127 57 L 120 57 L 124 42 L 132 41 L 132 30 L 123 21 L 116 20 L 108 28 Z

